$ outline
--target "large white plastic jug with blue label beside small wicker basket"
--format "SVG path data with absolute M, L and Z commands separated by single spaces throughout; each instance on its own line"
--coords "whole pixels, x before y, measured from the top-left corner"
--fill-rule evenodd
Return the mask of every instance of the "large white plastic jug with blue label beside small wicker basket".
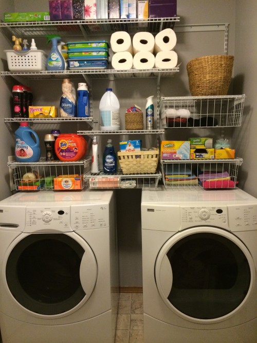
M 120 103 L 112 88 L 106 88 L 99 104 L 101 130 L 120 130 Z

